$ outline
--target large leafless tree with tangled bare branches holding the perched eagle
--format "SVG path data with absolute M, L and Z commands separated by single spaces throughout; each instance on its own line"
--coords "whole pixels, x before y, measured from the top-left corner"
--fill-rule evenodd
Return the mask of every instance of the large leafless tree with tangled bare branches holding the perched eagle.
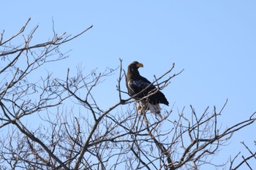
M 8 39 L 3 31 L 0 39 L 0 129 L 5 132 L 0 139 L 1 169 L 173 170 L 217 166 L 210 161 L 223 144 L 236 131 L 255 123 L 252 115 L 229 128 L 220 128 L 218 117 L 227 101 L 219 110 L 207 107 L 203 113 L 192 106 L 190 112 L 162 109 L 161 119 L 148 112 L 139 113 L 135 107 L 138 101 L 125 98 L 126 90 L 121 89 L 125 74 L 121 60 L 119 69 L 84 74 L 78 68 L 75 76 L 67 69 L 64 80 L 51 74 L 31 79 L 42 65 L 67 58 L 59 46 L 92 26 L 75 36 L 58 36 L 53 31 L 49 42 L 31 45 L 37 27 L 25 36 L 28 23 Z M 13 45 L 20 36 L 23 43 Z M 173 74 L 174 66 L 155 77 L 152 84 L 157 90 L 166 88 L 181 74 Z M 119 101 L 102 109 L 94 90 L 118 71 Z M 31 125 L 29 119 L 34 117 L 38 123 Z

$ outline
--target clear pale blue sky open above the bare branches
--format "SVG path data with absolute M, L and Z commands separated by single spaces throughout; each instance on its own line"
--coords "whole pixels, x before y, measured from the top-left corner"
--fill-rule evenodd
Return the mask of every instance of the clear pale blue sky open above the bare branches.
M 45 68 L 55 75 L 66 74 L 68 67 L 75 72 L 78 64 L 87 72 L 116 68 L 122 58 L 125 69 L 132 61 L 143 63 L 140 74 L 153 80 L 154 74 L 161 75 L 174 62 L 175 72 L 184 69 L 164 90 L 170 105 L 175 103 L 174 113 L 184 106 L 189 112 L 189 104 L 198 112 L 214 105 L 220 109 L 228 98 L 221 119 L 225 128 L 256 111 L 254 0 L 1 2 L 0 30 L 5 29 L 6 35 L 15 34 L 28 18 L 29 28 L 39 25 L 34 36 L 37 42 L 52 35 L 52 18 L 59 34 L 76 34 L 94 25 L 64 45 L 63 51 L 72 49 L 66 61 L 58 68 Z M 99 86 L 96 97 L 104 93 L 113 98 L 106 101 L 98 97 L 102 107 L 118 101 L 117 77 L 115 74 Z M 241 141 L 252 145 L 255 128 L 253 125 L 236 134 L 219 157 L 243 150 Z

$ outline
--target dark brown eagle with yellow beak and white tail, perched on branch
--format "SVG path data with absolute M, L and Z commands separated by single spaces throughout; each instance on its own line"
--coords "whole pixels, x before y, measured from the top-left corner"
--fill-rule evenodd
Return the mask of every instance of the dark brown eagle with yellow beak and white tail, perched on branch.
M 138 61 L 134 61 L 128 66 L 126 75 L 128 94 L 139 102 L 138 109 L 140 113 L 146 112 L 149 109 L 151 113 L 156 113 L 162 117 L 159 104 L 169 106 L 169 102 L 165 98 L 165 95 L 151 84 L 150 81 L 140 76 L 138 72 L 140 67 L 143 67 L 143 63 L 139 63 Z M 135 96 L 136 94 L 138 95 Z

